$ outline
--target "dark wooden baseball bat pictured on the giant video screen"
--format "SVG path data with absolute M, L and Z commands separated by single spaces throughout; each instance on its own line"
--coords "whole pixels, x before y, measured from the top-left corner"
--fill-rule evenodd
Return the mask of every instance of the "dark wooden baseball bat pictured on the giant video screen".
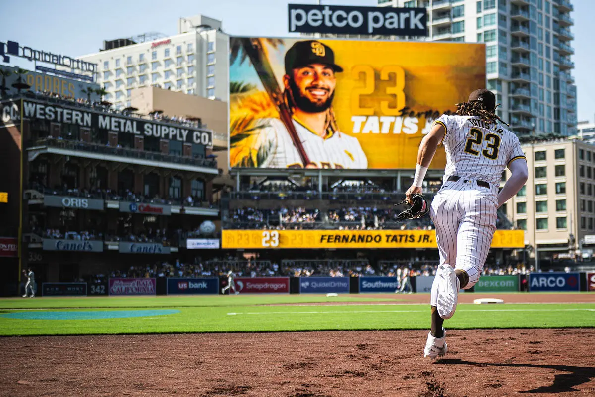
M 289 132 L 289 136 L 292 138 L 293 145 L 296 147 L 299 157 L 302 160 L 303 166 L 306 167 L 310 161 L 305 149 L 303 148 L 302 141 L 300 140 L 299 135 L 297 135 L 296 128 L 293 125 L 292 112 L 289 110 L 287 104 L 283 100 L 283 92 L 281 91 L 281 87 L 279 87 L 277 79 L 275 79 L 273 67 L 271 67 L 271 62 L 268 60 L 266 54 L 267 50 L 262 44 L 261 39 L 250 39 L 243 37 L 240 40 L 242 40 L 244 51 L 246 51 L 246 54 L 248 54 L 252 65 L 258 73 L 258 77 L 260 78 L 262 85 L 264 86 L 265 90 L 267 90 L 267 93 L 270 95 L 271 99 L 273 99 L 273 104 L 279 112 L 279 118 L 283 124 L 285 124 L 287 132 Z

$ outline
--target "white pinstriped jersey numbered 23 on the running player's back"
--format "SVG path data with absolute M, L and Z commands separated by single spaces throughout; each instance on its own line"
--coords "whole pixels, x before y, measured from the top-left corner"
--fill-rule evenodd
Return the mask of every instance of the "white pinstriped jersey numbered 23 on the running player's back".
M 483 180 L 499 185 L 502 172 L 517 158 L 525 158 L 518 137 L 499 121 L 477 116 L 441 115 L 434 123 L 446 129 L 444 175 Z

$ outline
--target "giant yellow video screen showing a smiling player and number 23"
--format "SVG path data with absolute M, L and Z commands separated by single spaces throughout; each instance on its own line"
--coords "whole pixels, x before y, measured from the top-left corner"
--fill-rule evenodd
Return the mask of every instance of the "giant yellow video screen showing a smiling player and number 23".
M 434 120 L 486 85 L 484 44 L 230 37 L 230 52 L 232 168 L 413 169 Z

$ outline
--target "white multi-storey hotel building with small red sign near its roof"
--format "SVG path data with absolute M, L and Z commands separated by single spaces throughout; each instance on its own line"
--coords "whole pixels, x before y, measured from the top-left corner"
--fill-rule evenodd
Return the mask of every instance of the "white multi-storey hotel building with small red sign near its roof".
M 98 65 L 96 82 L 108 92 L 104 99 L 117 109 L 130 106 L 137 87 L 226 99 L 227 42 L 221 21 L 197 15 L 180 18 L 177 35 L 142 35 L 142 42 L 106 40 L 101 51 L 79 59 Z

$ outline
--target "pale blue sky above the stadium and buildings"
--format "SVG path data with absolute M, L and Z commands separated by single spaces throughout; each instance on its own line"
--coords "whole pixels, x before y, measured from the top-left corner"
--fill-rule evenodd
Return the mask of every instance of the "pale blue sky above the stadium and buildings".
M 16 40 L 37 49 L 77 56 L 96 52 L 103 40 L 145 32 L 173 35 L 180 17 L 203 14 L 223 20 L 231 35 L 293 36 L 287 33 L 287 3 L 315 0 L 7 0 L 0 14 L 0 40 Z M 593 122 L 595 114 L 595 0 L 574 4 L 578 120 Z M 377 0 L 323 0 L 322 4 L 369 5 Z M 13 58 L 14 59 L 14 58 Z M 21 64 L 31 67 L 32 64 Z

